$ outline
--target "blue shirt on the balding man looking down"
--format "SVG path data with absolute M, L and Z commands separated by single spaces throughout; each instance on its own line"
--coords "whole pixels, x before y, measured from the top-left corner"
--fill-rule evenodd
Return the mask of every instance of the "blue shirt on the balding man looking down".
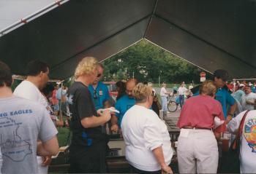
M 135 99 L 129 98 L 128 95 L 124 95 L 116 101 L 115 108 L 120 111 L 119 114 L 116 113 L 116 116 L 118 117 L 118 127 L 121 127 L 121 120 L 123 119 L 124 114 L 134 105 Z

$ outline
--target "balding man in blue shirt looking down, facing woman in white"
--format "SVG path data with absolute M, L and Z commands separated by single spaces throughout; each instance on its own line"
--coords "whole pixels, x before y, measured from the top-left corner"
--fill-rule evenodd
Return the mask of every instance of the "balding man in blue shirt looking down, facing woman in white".
M 116 101 L 115 108 L 116 110 L 120 111 L 120 113 L 116 113 L 116 115 L 112 116 L 111 118 L 111 130 L 113 132 L 117 132 L 118 127 L 121 127 L 121 120 L 123 119 L 124 114 L 129 108 L 135 105 L 135 99 L 133 98 L 132 90 L 135 88 L 136 84 L 138 84 L 137 79 L 129 79 L 126 87 L 127 94 Z

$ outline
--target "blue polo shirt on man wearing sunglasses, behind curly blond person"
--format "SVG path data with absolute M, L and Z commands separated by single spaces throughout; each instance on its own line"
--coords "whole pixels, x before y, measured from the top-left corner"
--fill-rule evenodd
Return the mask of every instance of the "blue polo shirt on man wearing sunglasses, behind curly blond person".
M 105 101 L 110 99 L 108 87 L 103 84 L 103 82 L 99 82 L 95 89 L 96 94 L 94 94 L 94 87 L 91 84 L 89 85 L 88 89 L 91 94 L 91 99 L 94 101 L 96 110 L 99 108 L 104 108 Z

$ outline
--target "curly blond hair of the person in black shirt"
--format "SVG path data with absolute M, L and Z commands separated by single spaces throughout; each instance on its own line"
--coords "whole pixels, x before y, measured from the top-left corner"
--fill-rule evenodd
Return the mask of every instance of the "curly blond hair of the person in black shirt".
M 77 68 L 75 68 L 75 79 L 83 74 L 93 74 L 97 69 L 98 60 L 94 57 L 86 57 L 80 60 Z

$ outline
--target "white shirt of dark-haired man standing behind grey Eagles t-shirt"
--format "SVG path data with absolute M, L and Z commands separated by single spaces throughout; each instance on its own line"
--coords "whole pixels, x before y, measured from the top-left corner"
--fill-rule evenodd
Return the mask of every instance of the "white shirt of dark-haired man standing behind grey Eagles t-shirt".
M 32 82 L 29 82 L 27 80 L 21 82 L 18 87 L 15 88 L 13 94 L 20 98 L 37 101 L 45 106 L 45 108 L 47 108 L 48 106 L 45 97 L 42 95 L 39 89 Z

